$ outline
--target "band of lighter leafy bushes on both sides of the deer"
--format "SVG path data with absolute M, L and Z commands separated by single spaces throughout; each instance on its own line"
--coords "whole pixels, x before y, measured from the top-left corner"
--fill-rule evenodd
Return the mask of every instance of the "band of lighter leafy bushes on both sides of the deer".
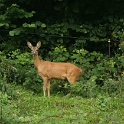
M 0 87 L 5 90 L 5 84 L 21 84 L 34 92 L 42 91 L 42 78 L 37 75 L 30 53 L 12 51 L 0 58 Z M 71 53 L 63 46 L 56 47 L 49 52 L 46 60 L 68 61 L 82 68 L 83 72 L 76 85 L 70 85 L 65 80 L 51 80 L 51 92 L 68 94 L 73 93 L 84 97 L 93 97 L 100 91 L 110 94 L 118 92 L 119 79 L 123 68 L 123 56 L 107 58 L 98 52 L 88 52 L 84 49 L 74 49 Z M 111 80 L 112 79 L 112 80 Z

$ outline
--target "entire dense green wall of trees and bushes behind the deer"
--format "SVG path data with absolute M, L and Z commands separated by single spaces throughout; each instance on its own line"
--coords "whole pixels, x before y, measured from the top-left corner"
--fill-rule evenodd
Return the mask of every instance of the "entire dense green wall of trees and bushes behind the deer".
M 123 8 L 123 0 L 1 0 L 1 77 L 38 91 L 29 83 L 36 72 L 27 41 L 41 41 L 41 58 L 78 65 L 83 69 L 81 82 L 101 87 L 119 81 L 124 66 Z

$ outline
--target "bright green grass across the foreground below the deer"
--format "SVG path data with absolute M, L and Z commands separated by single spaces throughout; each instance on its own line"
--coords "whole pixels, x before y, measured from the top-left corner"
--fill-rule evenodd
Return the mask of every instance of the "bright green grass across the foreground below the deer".
M 43 97 L 18 88 L 16 98 L 1 93 L 2 124 L 123 124 L 124 100 L 98 95 Z

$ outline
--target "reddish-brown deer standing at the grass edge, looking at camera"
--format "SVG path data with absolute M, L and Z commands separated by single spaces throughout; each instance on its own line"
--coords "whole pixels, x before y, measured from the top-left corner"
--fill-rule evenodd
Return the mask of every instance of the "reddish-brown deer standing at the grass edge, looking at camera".
M 38 74 L 43 79 L 43 92 L 46 96 L 46 89 L 48 90 L 48 96 L 50 96 L 50 79 L 67 79 L 71 84 L 75 84 L 77 78 L 80 76 L 82 69 L 71 63 L 64 62 L 50 62 L 39 59 L 38 49 L 41 46 L 39 41 L 34 47 L 30 42 L 27 42 L 28 47 L 31 49 L 34 65 L 38 70 Z

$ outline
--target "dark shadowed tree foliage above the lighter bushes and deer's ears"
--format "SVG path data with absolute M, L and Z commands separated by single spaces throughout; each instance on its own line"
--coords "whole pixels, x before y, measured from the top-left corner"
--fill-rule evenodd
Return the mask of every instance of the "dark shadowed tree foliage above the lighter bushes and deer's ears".
M 36 42 L 40 39 L 45 47 L 51 44 L 58 47 L 59 44 L 67 51 L 85 47 L 91 52 L 95 50 L 107 54 L 107 40 L 110 38 L 111 53 L 114 55 L 123 37 L 123 7 L 120 8 L 120 0 L 109 1 L 107 6 L 99 8 L 101 3 L 95 1 L 92 6 L 92 2 L 86 0 L 69 4 L 67 1 L 1 1 L 0 29 L 5 40 L 2 42 L 5 42 L 4 45 L 10 42 L 22 49 L 25 40 Z M 106 4 L 105 1 L 102 4 Z M 48 8 L 44 8 L 46 5 Z

